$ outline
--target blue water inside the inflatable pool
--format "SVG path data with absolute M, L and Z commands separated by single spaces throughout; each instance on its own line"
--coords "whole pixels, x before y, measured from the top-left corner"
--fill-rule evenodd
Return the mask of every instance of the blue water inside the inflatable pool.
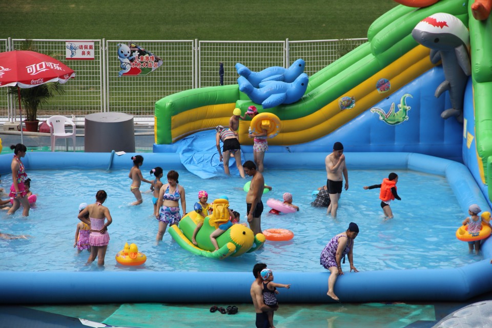
M 2 232 L 30 235 L 28 240 L 0 239 L 4 271 L 251 271 L 255 262 L 265 262 L 274 270 L 319 272 L 319 255 L 325 244 L 343 232 L 348 223 L 359 225 L 355 240 L 354 264 L 359 271 L 395 269 L 449 269 L 479 261 L 482 256 L 468 254 L 465 242 L 456 239 L 455 232 L 466 216 L 441 176 L 414 171 L 398 171 L 398 194 L 391 207 L 395 218 L 384 220 L 379 206 L 379 189 L 364 190 L 363 186 L 381 183 L 386 170 L 349 171 L 350 188 L 342 193 L 338 217 L 326 215 L 325 208 L 310 206 L 312 192 L 324 185 L 324 170 L 269 170 L 265 182 L 273 190 L 263 196 L 265 211 L 262 228 L 283 228 L 294 232 L 288 242 L 267 241 L 257 252 L 223 261 L 193 255 L 183 250 L 166 232 L 156 243 L 157 220 L 152 216 L 152 194 L 144 194 L 144 203 L 129 206 L 135 200 L 130 192 L 128 170 L 37 170 L 29 171 L 31 189 L 38 194 L 36 207 L 28 218 L 19 210 L 12 216 L 2 214 Z M 150 179 L 151 168 L 142 167 Z M 165 170 L 167 172 L 167 170 Z M 186 190 L 187 210 L 193 208 L 199 190 L 209 193 L 209 201 L 227 195 L 231 208 L 245 221 L 243 185 L 249 179 L 221 176 L 202 180 L 181 170 L 179 183 Z M 4 177 L 3 188 L 11 181 Z M 149 185 L 142 182 L 141 190 Z M 108 193 L 105 205 L 110 209 L 113 224 L 109 228 L 110 243 L 106 265 L 85 265 L 89 253 L 77 253 L 73 248 L 78 205 L 94 202 L 95 193 Z M 300 211 L 272 215 L 266 206 L 268 198 L 280 199 L 284 192 L 293 195 Z M 5 212 L 4 212 L 5 213 Z M 136 243 L 147 255 L 139 267 L 124 267 L 116 263 L 115 254 L 125 242 Z M 348 261 L 344 264 L 348 268 Z

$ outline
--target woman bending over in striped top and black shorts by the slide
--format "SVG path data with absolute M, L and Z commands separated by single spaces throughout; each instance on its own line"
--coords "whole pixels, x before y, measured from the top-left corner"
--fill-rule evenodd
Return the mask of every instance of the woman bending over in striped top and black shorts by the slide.
M 244 169 L 242 168 L 241 163 L 241 145 L 239 145 L 238 136 L 234 133 L 234 131 L 225 129 L 221 125 L 218 125 L 215 130 L 217 131 L 215 134 L 215 146 L 219 152 L 219 160 L 223 162 L 224 173 L 227 175 L 230 174 L 229 159 L 231 158 L 231 154 L 234 154 L 239 175 L 241 178 L 244 178 Z M 222 152 L 220 152 L 220 141 L 223 142 Z

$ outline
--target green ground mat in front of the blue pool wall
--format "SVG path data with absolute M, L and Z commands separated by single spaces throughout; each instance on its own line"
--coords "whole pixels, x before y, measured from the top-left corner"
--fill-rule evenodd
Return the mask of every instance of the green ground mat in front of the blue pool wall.
M 41 305 L 32 309 L 104 322 L 115 326 L 154 327 L 253 327 L 252 304 L 216 304 L 224 309 L 236 305 L 235 315 L 210 312 L 209 304 L 101 304 Z M 280 304 L 274 323 L 280 327 L 405 327 L 415 321 L 435 321 L 433 305 L 412 304 Z

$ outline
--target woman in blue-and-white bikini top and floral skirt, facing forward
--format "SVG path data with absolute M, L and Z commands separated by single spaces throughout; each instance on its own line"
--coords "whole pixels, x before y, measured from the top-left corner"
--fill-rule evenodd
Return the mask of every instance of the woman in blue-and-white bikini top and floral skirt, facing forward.
M 159 220 L 159 230 L 155 239 L 157 241 L 162 240 L 168 224 L 172 226 L 173 224 L 178 224 L 181 220 L 178 200 L 181 200 L 183 215 L 186 215 L 185 188 L 178 185 L 179 174 L 171 170 L 168 172 L 167 177 L 168 183 L 160 188 L 157 200 L 158 212 L 155 215 L 155 218 Z

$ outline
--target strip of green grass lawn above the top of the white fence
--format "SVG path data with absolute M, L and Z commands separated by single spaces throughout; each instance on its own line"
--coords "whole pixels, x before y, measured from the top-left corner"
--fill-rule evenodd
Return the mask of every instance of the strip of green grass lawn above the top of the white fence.
M 358 38 L 395 6 L 393 0 L 3 0 L 0 38 Z

